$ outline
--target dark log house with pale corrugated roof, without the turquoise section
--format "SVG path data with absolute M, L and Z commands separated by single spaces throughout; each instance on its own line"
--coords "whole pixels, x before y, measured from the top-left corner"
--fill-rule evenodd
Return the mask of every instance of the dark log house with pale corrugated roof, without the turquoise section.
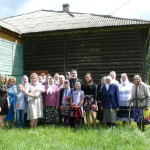
M 40 10 L 2 19 L 23 41 L 24 74 L 90 72 L 94 81 L 116 71 L 147 79 L 150 21 L 107 15 Z M 0 50 L 1 51 L 1 50 Z

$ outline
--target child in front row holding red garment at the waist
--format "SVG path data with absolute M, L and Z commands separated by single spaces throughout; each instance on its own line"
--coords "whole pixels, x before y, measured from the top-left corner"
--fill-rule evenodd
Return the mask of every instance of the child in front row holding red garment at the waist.
M 74 125 L 77 128 L 82 125 L 84 92 L 81 90 L 80 82 L 75 83 L 75 89 L 71 96 L 71 116 L 74 117 Z

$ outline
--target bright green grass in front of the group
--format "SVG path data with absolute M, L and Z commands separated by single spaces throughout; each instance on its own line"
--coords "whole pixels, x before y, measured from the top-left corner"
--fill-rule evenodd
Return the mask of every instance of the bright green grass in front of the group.
M 150 127 L 0 129 L 0 150 L 150 150 Z

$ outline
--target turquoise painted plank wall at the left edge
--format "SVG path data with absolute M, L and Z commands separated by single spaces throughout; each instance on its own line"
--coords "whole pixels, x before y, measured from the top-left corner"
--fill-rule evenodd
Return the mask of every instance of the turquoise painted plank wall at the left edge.
M 23 75 L 23 45 L 0 39 L 0 74 L 15 76 L 18 82 Z

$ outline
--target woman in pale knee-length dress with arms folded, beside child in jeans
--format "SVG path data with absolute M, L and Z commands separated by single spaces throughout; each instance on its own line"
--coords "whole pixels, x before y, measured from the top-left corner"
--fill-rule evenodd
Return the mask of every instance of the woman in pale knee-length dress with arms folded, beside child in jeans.
M 38 75 L 30 75 L 31 83 L 27 86 L 25 94 L 28 96 L 27 120 L 30 127 L 36 128 L 38 119 L 43 117 L 43 99 L 41 93 L 45 92 L 44 86 L 38 83 Z

